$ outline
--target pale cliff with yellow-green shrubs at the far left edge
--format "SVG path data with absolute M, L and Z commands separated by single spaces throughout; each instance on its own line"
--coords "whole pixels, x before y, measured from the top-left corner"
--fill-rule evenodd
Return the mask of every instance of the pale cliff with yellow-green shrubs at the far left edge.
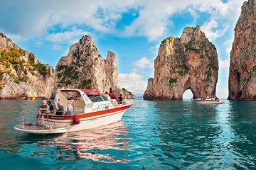
M 0 98 L 50 98 L 54 70 L 0 33 Z

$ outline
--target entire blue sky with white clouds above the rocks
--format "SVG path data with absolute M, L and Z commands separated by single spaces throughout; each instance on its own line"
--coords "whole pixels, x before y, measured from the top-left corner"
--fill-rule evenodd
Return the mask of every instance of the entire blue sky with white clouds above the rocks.
M 0 32 L 55 68 L 82 35 L 92 36 L 100 55 L 117 54 L 119 86 L 142 95 L 154 76 L 161 40 L 199 25 L 218 52 L 216 94 L 228 97 L 229 53 L 243 0 L 1 1 Z M 184 98 L 190 98 L 186 91 Z

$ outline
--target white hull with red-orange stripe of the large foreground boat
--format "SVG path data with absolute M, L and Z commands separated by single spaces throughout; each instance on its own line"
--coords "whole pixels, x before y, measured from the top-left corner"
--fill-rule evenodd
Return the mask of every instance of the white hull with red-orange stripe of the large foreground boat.
M 85 113 L 77 115 L 80 123 L 73 123 L 74 115 L 45 115 L 38 114 L 38 123 L 36 125 L 16 125 L 15 129 L 28 133 L 36 134 L 53 134 L 76 132 L 97 128 L 102 125 L 116 123 L 122 119 L 124 112 L 132 105 L 113 108 L 105 111 L 97 111 L 94 113 Z

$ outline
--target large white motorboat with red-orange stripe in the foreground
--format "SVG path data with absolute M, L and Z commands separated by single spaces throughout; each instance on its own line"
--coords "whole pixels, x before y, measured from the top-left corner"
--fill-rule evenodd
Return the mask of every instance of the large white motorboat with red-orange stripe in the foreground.
M 23 119 L 21 125 L 16 125 L 14 128 L 36 134 L 65 133 L 97 128 L 118 122 L 133 104 L 133 101 L 127 101 L 127 103 L 117 103 L 113 99 L 109 101 L 98 91 L 88 89 L 58 89 L 55 102 L 58 100 L 63 103 L 62 115 L 38 113 L 37 123 L 30 123 Z M 73 101 L 75 115 L 65 114 L 67 103 L 70 100 Z

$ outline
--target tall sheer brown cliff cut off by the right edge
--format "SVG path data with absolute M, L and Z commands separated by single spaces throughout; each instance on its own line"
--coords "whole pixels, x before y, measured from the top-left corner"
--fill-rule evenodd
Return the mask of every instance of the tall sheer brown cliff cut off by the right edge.
M 256 0 L 245 1 L 230 52 L 228 99 L 256 100 Z

